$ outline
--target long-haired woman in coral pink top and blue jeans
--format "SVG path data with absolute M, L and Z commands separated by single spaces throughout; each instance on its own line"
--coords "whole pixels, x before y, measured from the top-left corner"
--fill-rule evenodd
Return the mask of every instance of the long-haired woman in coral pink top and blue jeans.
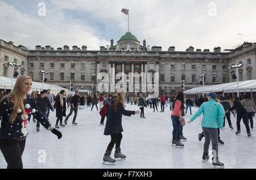
M 184 119 L 181 116 L 181 110 L 184 108 L 184 94 L 183 92 L 177 92 L 175 96 L 174 103 L 172 104 L 173 111 L 171 115 L 172 126 L 174 130 L 172 131 L 172 145 L 176 145 L 176 148 L 184 148 L 184 144 L 180 143 L 181 134 L 181 123 L 179 119 Z

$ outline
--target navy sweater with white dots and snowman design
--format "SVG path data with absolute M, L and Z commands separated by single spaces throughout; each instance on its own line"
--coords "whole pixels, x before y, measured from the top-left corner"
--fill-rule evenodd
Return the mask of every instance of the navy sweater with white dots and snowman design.
M 9 122 L 9 118 L 11 113 L 13 112 L 13 101 L 7 100 L 4 98 L 0 102 L 0 138 L 3 139 L 19 139 L 24 138 L 28 135 L 28 119 L 30 119 L 31 114 L 33 114 L 41 125 L 43 125 L 47 130 L 51 128 L 51 124 L 44 117 L 44 115 L 40 112 L 38 105 L 36 105 L 36 101 L 34 98 L 27 95 L 27 100 L 23 101 L 26 115 L 24 116 L 22 110 L 18 110 L 18 115 L 11 124 Z

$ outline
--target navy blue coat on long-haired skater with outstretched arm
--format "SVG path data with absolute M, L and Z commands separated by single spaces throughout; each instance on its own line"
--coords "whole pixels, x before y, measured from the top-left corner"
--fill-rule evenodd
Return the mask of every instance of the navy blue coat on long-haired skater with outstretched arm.
M 112 97 L 111 99 L 111 105 L 109 108 L 109 114 L 106 121 L 104 135 L 113 135 L 113 134 L 118 134 L 119 132 L 123 132 L 122 115 L 131 116 L 131 114 L 135 114 L 135 111 L 125 110 L 121 102 L 119 102 L 119 105 L 118 105 L 118 112 L 115 113 L 114 102 L 113 102 L 115 98 L 116 96 Z

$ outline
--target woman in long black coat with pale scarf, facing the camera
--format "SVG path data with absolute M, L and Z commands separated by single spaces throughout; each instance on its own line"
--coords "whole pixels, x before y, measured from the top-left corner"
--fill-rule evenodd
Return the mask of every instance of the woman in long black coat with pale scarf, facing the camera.
M 59 96 L 56 96 L 56 101 L 54 104 L 54 109 L 56 109 L 56 125 L 55 128 L 59 128 L 58 124 L 60 121 L 60 126 L 64 127 L 65 125 L 63 125 L 62 123 L 62 119 L 63 117 L 66 117 L 66 111 L 67 111 L 67 107 L 66 107 L 66 101 L 67 101 L 67 96 L 65 96 L 65 91 L 61 90 L 59 93 Z

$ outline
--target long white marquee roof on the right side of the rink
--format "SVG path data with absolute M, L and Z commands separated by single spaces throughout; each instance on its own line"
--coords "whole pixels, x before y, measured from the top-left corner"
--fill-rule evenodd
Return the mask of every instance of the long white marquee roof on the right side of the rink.
M 232 93 L 237 92 L 237 82 L 201 86 L 197 88 L 192 88 L 185 91 L 186 94 L 196 94 L 196 93 L 208 93 L 208 92 L 224 92 Z M 256 92 L 256 79 L 246 80 L 244 82 L 239 82 L 239 92 Z

